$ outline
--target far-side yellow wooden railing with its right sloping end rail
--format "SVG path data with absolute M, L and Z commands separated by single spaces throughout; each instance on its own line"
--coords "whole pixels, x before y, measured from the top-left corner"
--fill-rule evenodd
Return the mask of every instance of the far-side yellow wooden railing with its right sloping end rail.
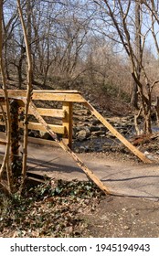
M 26 99 L 26 91 L 20 90 L 8 90 L 8 97 L 11 100 L 18 101 L 19 112 L 24 111 L 24 101 Z M 1 104 L 4 106 L 5 110 L 5 101 L 4 101 L 4 92 L 0 90 L 0 100 Z M 142 152 L 140 152 L 135 146 L 133 146 L 128 140 L 126 140 L 121 133 L 119 133 L 111 123 L 105 120 L 99 112 L 97 112 L 88 101 L 86 101 L 80 94 L 80 91 L 33 91 L 32 101 L 36 105 L 37 101 L 61 101 L 61 109 L 44 109 L 38 108 L 36 112 L 40 116 L 56 117 L 61 119 L 61 124 L 57 125 L 55 123 L 48 123 L 49 128 L 54 133 L 62 134 L 63 141 L 65 144 L 69 145 L 69 148 L 72 146 L 72 104 L 74 102 L 82 103 L 90 112 L 97 117 L 105 125 L 105 127 L 111 131 L 126 147 L 128 147 L 132 154 L 137 155 L 144 163 L 151 163 Z M 33 112 L 29 112 L 34 115 Z M 1 115 L 2 116 L 2 115 Z M 36 116 L 36 115 L 35 115 Z M 0 121 L 0 124 L 4 125 L 4 121 Z M 23 121 L 19 122 L 19 127 L 23 128 Z M 28 129 L 37 130 L 45 132 L 46 128 L 42 123 L 29 122 Z

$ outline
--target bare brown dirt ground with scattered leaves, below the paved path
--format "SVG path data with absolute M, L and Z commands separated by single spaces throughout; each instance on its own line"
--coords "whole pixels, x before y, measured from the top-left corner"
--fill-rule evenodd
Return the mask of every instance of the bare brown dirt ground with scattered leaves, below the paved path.
M 106 197 L 90 214 L 86 237 L 158 238 L 159 202 L 144 198 Z

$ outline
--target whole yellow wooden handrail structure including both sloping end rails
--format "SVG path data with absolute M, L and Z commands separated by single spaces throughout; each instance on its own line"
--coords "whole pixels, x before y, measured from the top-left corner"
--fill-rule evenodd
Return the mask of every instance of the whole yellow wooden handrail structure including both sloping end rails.
M 8 98 L 15 100 L 18 102 L 18 110 L 19 114 L 21 114 L 24 111 L 24 104 L 26 103 L 26 91 L 20 91 L 20 90 L 8 90 Z M 1 104 L 5 105 L 4 100 L 4 93 L 2 90 L 0 90 L 0 101 Z M 58 145 L 65 150 L 66 153 L 68 153 L 80 166 L 80 168 L 85 172 L 87 176 L 90 177 L 90 179 L 103 190 L 106 194 L 111 194 L 111 191 L 108 187 L 103 185 L 101 180 L 94 175 L 94 173 L 86 166 L 84 163 L 80 160 L 79 156 L 76 155 L 74 152 L 71 151 L 71 143 L 72 143 L 72 104 L 73 102 L 80 102 L 82 103 L 86 108 L 90 110 L 90 112 L 96 116 L 97 119 L 105 125 L 105 127 L 113 134 L 115 135 L 121 142 L 124 144 L 131 152 L 132 154 L 138 156 L 144 163 L 152 163 L 150 159 L 148 159 L 145 155 L 143 155 L 142 152 L 140 152 L 134 145 L 132 145 L 127 139 L 125 139 L 121 133 L 119 133 L 112 125 L 109 123 L 103 116 L 97 112 L 92 105 L 86 101 L 80 94 L 80 91 L 33 91 L 32 94 L 32 100 L 34 101 L 62 101 L 63 107 L 59 111 L 60 118 L 62 119 L 62 125 L 54 125 L 49 124 L 45 121 L 45 119 L 42 117 L 43 115 L 50 116 L 49 109 L 44 110 L 43 108 L 37 108 L 36 104 L 33 101 L 30 101 L 29 103 L 29 114 L 34 115 L 37 118 L 38 123 L 28 123 L 28 128 L 35 130 L 41 130 L 48 132 L 51 137 L 55 140 Z M 4 101 L 4 102 L 3 102 Z M 4 108 L 5 110 L 5 108 Z M 52 114 L 57 113 L 55 110 L 52 112 Z M 2 123 L 2 121 L 0 122 Z M 14 123 L 14 121 L 13 121 Z M 18 123 L 19 127 L 23 128 L 23 121 Z M 59 140 L 57 133 L 63 134 L 63 139 Z M 14 138 L 11 138 L 14 142 Z M 4 142 L 4 138 L 2 140 L 2 143 Z

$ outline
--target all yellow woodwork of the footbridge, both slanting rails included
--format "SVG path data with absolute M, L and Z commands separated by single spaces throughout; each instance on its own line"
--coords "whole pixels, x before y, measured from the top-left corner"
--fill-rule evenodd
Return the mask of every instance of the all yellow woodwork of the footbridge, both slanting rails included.
M 24 126 L 24 110 L 26 104 L 26 91 L 20 90 L 8 90 L 8 98 L 10 101 L 10 106 L 16 108 L 17 118 L 13 118 L 16 122 L 18 129 L 23 129 Z M 42 108 L 43 101 L 50 103 L 50 101 L 60 103 L 60 108 L 52 109 Z M 56 141 L 56 143 L 67 153 L 77 165 L 84 171 L 84 173 L 89 176 L 89 178 L 95 182 L 95 184 L 100 187 L 105 193 L 111 194 L 108 187 L 103 185 L 100 178 L 95 176 L 94 173 L 80 160 L 79 156 L 76 155 L 72 149 L 72 109 L 73 103 L 80 103 L 90 110 L 97 119 L 101 121 L 105 127 L 110 130 L 110 132 L 115 135 L 124 144 L 132 154 L 139 157 L 143 163 L 151 163 L 142 152 L 140 152 L 135 146 L 133 146 L 128 140 L 126 140 L 121 133 L 119 133 L 111 123 L 105 120 L 102 115 L 97 112 L 90 102 L 86 101 L 80 91 L 33 91 L 32 100 L 29 104 L 29 123 L 28 129 L 47 132 Z M 50 105 L 50 104 L 48 104 Z M 5 100 L 4 91 L 0 90 L 0 125 L 5 125 L 4 113 L 5 113 Z M 17 114 L 18 113 L 18 114 Z M 60 124 L 56 124 L 55 120 L 58 119 Z M 51 120 L 51 122 L 50 122 Z M 61 134 L 58 136 L 58 134 Z M 62 138 L 61 138 L 62 137 Z M 14 140 L 14 138 L 12 138 Z M 39 139 L 37 144 L 39 143 Z M 40 139 L 42 140 L 42 139 Z M 0 144 L 5 144 L 5 133 L 0 133 Z

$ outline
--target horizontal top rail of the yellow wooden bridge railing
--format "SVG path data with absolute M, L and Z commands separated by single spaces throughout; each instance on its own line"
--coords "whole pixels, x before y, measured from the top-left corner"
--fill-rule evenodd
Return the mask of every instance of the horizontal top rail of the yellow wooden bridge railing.
M 0 97 L 4 92 L 0 90 Z M 9 98 L 26 97 L 25 90 L 8 90 Z M 85 102 L 79 91 L 33 91 L 32 100 Z

